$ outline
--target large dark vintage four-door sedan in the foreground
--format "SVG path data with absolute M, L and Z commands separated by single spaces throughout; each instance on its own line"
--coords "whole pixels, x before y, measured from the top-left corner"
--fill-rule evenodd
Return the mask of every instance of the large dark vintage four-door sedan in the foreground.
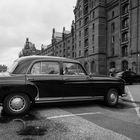
M 103 96 L 110 106 L 125 96 L 124 80 L 93 77 L 76 60 L 53 56 L 17 59 L 0 76 L 0 103 L 10 115 L 26 113 L 31 104 L 91 100 Z

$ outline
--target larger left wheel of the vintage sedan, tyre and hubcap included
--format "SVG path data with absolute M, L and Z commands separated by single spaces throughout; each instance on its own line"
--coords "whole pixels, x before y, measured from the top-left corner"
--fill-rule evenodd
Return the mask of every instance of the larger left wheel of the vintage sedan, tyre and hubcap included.
M 19 115 L 26 113 L 31 102 L 26 94 L 10 94 L 3 102 L 3 110 L 9 115 Z

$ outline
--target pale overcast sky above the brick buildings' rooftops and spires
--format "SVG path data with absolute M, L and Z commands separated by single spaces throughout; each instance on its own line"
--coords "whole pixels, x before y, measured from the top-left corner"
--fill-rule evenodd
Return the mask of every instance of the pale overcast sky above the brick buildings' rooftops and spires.
M 77 0 L 0 0 L 0 64 L 18 58 L 26 37 L 36 48 L 51 43 L 52 29 L 70 30 Z

